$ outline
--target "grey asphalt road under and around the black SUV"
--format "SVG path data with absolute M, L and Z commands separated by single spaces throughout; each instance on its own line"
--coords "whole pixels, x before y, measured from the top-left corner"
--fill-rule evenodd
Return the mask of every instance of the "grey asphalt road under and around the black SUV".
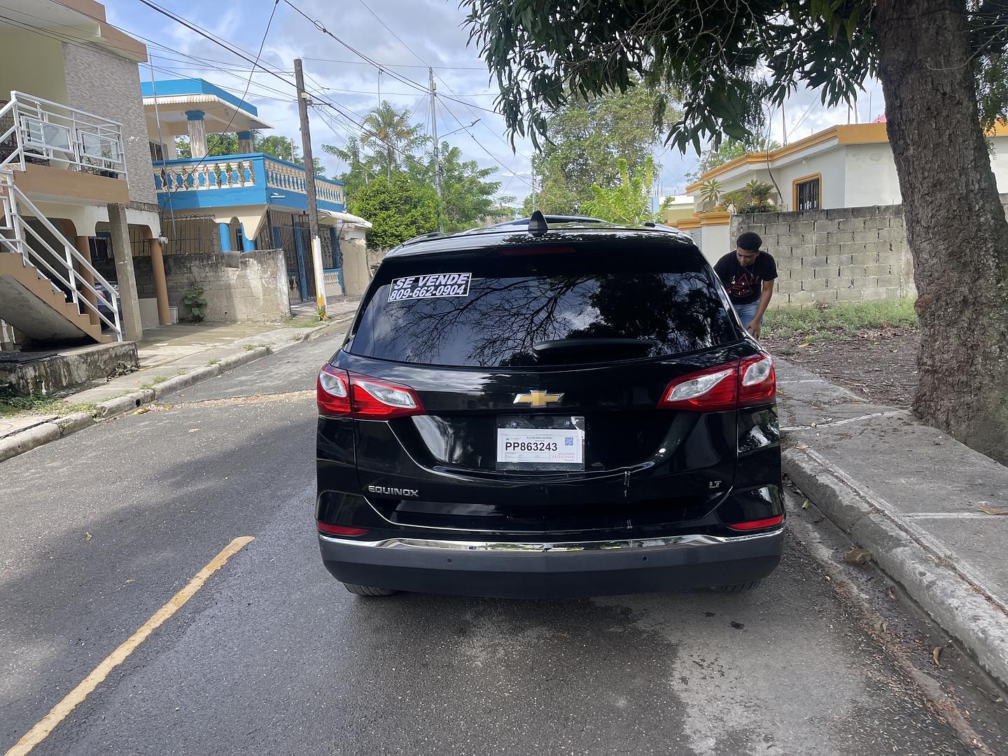
M 252 535 L 32 753 L 976 752 L 793 537 L 744 597 L 346 593 L 312 523 L 338 344 L 0 465 L 0 750 Z

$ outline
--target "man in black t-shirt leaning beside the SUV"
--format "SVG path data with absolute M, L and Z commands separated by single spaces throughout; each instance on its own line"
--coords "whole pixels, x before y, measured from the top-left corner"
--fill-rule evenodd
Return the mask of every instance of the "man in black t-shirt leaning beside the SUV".
M 728 290 L 728 298 L 739 313 L 746 330 L 759 339 L 763 313 L 773 296 L 777 263 L 767 252 L 760 252 L 763 240 L 747 231 L 735 242 L 735 251 L 718 260 L 714 271 Z

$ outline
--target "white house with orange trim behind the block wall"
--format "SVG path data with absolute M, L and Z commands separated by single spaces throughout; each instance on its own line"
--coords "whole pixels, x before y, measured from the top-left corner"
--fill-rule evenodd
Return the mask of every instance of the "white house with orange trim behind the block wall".
M 991 163 L 1000 192 L 1008 192 L 1008 128 L 991 135 Z M 831 126 L 769 152 L 754 152 L 706 171 L 686 186 L 698 212 L 673 225 L 690 233 L 710 259 L 732 248 L 731 214 L 702 198 L 704 182 L 717 179 L 722 195 L 741 190 L 754 178 L 774 185 L 779 211 L 899 205 L 899 180 L 886 135 L 875 123 Z

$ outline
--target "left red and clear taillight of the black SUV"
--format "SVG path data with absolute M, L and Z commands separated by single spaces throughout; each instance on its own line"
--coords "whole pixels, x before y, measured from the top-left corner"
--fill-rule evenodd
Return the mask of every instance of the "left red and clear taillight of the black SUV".
M 319 414 L 387 420 L 422 414 L 420 399 L 409 386 L 348 373 L 325 365 L 316 391 Z

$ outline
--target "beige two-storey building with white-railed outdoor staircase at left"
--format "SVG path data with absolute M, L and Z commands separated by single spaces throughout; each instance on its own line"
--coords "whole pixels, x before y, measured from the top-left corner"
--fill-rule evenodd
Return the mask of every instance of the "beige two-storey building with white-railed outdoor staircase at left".
M 93 0 L 7 0 L 4 16 L 2 339 L 135 341 L 134 255 L 152 258 L 159 283 L 144 320 L 169 319 L 137 66 L 146 48 L 109 25 Z

